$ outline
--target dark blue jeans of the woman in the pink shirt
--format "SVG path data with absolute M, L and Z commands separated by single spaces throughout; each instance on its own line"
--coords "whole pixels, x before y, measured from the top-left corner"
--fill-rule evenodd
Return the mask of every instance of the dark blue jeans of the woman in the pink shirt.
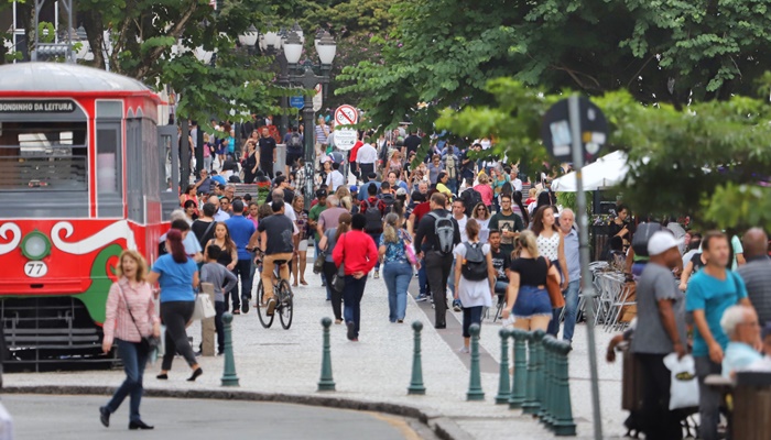
M 130 395 L 129 420 L 139 421 L 139 404 L 142 400 L 143 392 L 142 376 L 144 375 L 144 365 L 148 363 L 148 353 L 140 349 L 138 342 L 128 342 L 120 339 L 117 339 L 116 342 L 118 342 L 118 355 L 123 362 L 126 380 L 116 389 L 112 398 L 107 404 L 107 410 L 110 414 L 117 411 L 126 396 Z

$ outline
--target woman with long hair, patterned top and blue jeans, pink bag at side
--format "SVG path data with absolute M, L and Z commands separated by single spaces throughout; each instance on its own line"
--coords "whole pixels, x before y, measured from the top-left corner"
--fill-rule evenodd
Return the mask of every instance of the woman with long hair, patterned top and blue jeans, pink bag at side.
M 400 223 L 399 215 L 390 212 L 386 216 L 378 253 L 383 262 L 383 279 L 388 288 L 388 319 L 402 323 L 406 314 L 406 289 L 412 280 L 412 265 L 405 246 L 412 246 L 412 240 Z

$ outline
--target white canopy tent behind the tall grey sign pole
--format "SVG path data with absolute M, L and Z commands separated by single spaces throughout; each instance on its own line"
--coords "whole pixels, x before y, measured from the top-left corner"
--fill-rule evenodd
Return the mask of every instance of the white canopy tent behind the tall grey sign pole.
M 627 165 L 627 154 L 625 152 L 617 151 L 607 154 L 582 169 L 584 175 L 584 190 L 594 191 L 615 186 L 623 180 L 628 172 L 629 165 Z M 552 190 L 557 193 L 575 193 L 576 173 L 568 173 L 554 179 L 554 182 L 552 182 Z

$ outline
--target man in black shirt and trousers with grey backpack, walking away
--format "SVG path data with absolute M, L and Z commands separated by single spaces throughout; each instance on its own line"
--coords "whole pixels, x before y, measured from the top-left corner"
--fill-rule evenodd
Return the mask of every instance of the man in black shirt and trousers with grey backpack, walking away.
M 431 196 L 430 200 L 431 212 L 439 218 L 448 218 L 453 222 L 455 229 L 453 233 L 453 248 L 460 243 L 460 228 L 453 216 L 447 212 L 447 198 L 442 193 L 436 193 Z M 425 215 L 417 223 L 417 232 L 415 233 L 415 252 L 421 258 L 425 254 L 425 270 L 428 277 L 428 287 L 434 297 L 435 322 L 434 328 L 445 329 L 445 314 L 447 311 L 447 277 L 449 268 L 453 265 L 453 252 L 443 253 L 439 251 L 439 238 L 436 234 L 435 222 L 436 218 L 431 215 Z M 423 240 L 425 239 L 425 243 Z

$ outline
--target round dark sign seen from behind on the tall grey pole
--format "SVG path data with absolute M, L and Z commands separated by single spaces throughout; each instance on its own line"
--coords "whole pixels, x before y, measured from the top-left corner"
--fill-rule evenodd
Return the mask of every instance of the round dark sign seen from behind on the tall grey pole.
M 543 117 L 541 138 L 557 161 L 573 161 L 573 138 L 567 99 L 552 106 Z M 608 136 L 608 122 L 602 110 L 587 98 L 578 98 L 579 133 L 585 160 L 597 156 Z

